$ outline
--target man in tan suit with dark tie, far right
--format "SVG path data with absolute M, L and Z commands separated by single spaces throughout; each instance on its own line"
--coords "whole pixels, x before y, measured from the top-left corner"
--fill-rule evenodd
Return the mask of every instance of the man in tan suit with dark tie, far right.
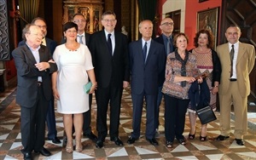
M 230 138 L 231 104 L 235 112 L 236 144 L 243 146 L 243 135 L 247 134 L 247 96 L 250 94 L 249 74 L 255 63 L 253 45 L 240 43 L 241 29 L 231 25 L 225 32 L 229 43 L 217 47 L 221 63 L 221 77 L 218 89 L 220 105 L 220 135 L 217 140 Z

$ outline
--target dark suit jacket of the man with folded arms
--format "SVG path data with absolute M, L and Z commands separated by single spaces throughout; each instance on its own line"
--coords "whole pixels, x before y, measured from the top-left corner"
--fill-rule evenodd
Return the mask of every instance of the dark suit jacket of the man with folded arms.
M 15 60 L 18 78 L 16 102 L 20 106 L 25 107 L 35 105 L 38 93 L 38 77 L 42 77 L 43 80 L 42 87 L 45 99 L 50 100 L 52 97 L 50 74 L 57 71 L 56 64 L 49 63 L 49 69 L 38 71 L 38 68 L 35 66 L 37 61 L 27 45 L 16 48 L 12 55 Z M 41 45 L 39 49 L 39 57 L 40 62 L 52 60 L 49 49 L 44 45 Z

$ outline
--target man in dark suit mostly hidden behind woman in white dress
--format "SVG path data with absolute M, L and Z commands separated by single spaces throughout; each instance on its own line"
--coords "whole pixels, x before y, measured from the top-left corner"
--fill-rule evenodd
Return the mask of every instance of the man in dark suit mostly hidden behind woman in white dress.
M 84 14 L 74 14 L 73 15 L 73 22 L 78 25 L 78 35 L 77 35 L 77 42 L 87 45 L 89 47 L 90 43 L 90 34 L 85 32 L 86 26 L 86 19 Z M 61 44 L 66 43 L 66 39 L 62 38 Z M 89 94 L 89 111 L 84 112 L 84 126 L 83 126 L 83 134 L 84 136 L 88 137 L 90 140 L 96 142 L 97 136 L 92 133 L 90 122 L 91 122 L 91 104 L 92 104 L 92 94 Z M 73 129 L 74 132 L 74 129 Z

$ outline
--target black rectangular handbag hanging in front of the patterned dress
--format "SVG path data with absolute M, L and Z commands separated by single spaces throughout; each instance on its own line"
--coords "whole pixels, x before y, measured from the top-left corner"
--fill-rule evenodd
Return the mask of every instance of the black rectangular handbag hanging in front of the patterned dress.
M 203 107 L 199 110 L 196 109 L 197 115 L 201 121 L 201 124 L 210 123 L 217 119 L 211 106 Z

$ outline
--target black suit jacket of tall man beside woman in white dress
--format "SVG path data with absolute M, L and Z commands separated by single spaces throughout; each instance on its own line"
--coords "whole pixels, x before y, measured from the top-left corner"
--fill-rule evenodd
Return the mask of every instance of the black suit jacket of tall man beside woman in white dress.
M 110 81 L 123 87 L 123 82 L 130 82 L 130 68 L 127 37 L 114 31 L 115 48 L 113 55 L 108 53 L 105 31 L 97 31 L 90 37 L 90 54 L 95 67 L 97 85 L 107 88 Z

